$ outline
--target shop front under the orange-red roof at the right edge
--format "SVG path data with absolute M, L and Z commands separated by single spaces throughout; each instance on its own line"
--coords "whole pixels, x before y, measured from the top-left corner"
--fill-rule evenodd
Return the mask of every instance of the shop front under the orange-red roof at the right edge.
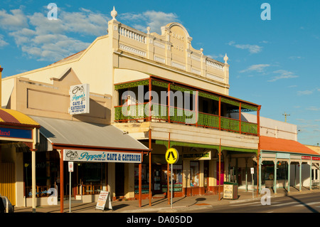
M 302 186 L 312 190 L 319 185 L 320 155 L 297 141 L 262 136 L 260 159 L 260 190 Z

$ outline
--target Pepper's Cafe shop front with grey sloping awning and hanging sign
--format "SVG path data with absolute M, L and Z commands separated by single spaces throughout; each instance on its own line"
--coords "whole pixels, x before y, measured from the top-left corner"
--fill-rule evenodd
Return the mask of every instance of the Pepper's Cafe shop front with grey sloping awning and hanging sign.
M 109 191 L 112 200 L 134 199 L 134 165 L 138 165 L 138 176 L 142 176 L 143 157 L 149 152 L 142 143 L 112 125 L 31 117 L 41 125 L 38 153 L 46 162 L 42 165 L 46 171 L 39 173 L 37 184 L 58 191 L 61 212 L 61 198 L 70 196 L 68 162 L 74 162 L 71 174 L 74 199 L 97 201 L 102 190 Z M 48 196 L 39 196 L 38 205 L 48 203 Z

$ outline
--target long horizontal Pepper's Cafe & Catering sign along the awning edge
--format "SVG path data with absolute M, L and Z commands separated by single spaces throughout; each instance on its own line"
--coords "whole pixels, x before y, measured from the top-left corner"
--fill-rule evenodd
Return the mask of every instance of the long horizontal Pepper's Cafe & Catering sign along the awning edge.
M 80 149 L 65 149 L 63 152 L 63 160 L 73 162 L 141 163 L 142 154 L 133 152 L 105 152 L 87 151 Z

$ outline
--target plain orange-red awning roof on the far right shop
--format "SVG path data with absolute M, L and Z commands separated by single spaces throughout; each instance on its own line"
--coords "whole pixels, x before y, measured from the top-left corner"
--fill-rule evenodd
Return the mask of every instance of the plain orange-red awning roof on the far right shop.
M 260 137 L 260 149 L 270 152 L 289 152 L 297 154 L 309 154 L 319 156 L 318 153 L 300 144 L 297 141 L 290 139 L 279 139 L 273 137 Z

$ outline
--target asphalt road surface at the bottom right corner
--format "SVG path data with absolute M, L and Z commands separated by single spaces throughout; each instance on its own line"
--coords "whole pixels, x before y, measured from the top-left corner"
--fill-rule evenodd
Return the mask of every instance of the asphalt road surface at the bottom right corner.
M 192 211 L 191 211 L 192 212 Z M 197 212 L 197 211 L 195 211 Z M 270 205 L 261 201 L 245 201 L 225 206 L 203 208 L 203 213 L 319 213 L 320 193 L 284 196 L 270 199 Z

